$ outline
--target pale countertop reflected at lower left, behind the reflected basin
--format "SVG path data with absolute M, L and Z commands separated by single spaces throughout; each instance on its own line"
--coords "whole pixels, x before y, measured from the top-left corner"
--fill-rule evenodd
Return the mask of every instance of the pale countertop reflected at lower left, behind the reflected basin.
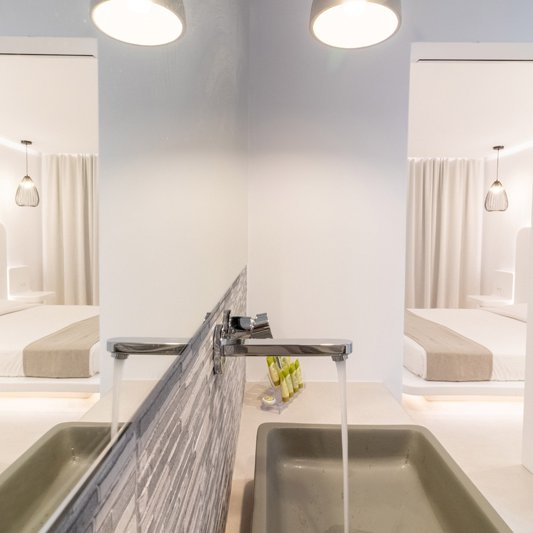
M 0 472 L 56 424 L 80 419 L 98 398 L 0 396 Z

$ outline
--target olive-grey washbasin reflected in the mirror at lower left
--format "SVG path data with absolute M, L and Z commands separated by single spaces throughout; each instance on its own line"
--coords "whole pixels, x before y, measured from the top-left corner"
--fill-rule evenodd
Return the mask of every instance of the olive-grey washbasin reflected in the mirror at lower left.
M 39 531 L 110 442 L 110 424 L 54 426 L 0 474 L 0 532 Z

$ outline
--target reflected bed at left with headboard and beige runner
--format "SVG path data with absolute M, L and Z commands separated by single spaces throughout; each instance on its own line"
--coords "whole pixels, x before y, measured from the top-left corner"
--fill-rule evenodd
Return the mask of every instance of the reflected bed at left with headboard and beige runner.
M 98 307 L 8 300 L 6 270 L 0 224 L 0 392 L 98 392 Z

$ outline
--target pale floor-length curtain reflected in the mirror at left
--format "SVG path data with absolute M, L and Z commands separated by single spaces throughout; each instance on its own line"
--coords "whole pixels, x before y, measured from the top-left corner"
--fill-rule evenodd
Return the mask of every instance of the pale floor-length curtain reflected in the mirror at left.
M 43 157 L 43 283 L 56 303 L 98 304 L 95 155 Z

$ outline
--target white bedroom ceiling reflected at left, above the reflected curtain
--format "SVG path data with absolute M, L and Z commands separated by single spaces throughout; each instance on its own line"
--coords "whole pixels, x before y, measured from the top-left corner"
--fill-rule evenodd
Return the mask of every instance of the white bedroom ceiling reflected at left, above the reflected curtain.
M 94 57 L 0 55 L 0 142 L 41 153 L 98 152 Z

